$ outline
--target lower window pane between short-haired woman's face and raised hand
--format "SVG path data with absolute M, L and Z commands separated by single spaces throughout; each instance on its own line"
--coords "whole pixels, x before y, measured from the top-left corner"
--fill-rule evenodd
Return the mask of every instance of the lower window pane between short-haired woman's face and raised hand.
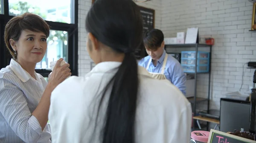
M 50 62 L 59 58 L 68 61 L 67 35 L 67 31 L 50 30 L 47 38 L 47 51 L 42 61 L 36 64 L 35 69 L 50 69 Z

